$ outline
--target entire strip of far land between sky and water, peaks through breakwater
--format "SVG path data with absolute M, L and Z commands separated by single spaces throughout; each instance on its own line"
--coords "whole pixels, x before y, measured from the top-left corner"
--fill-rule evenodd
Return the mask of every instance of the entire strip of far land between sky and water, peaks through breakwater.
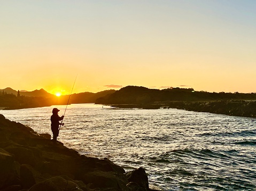
M 45 90 L 20 92 L 6 88 L 0 90 L 2 109 L 22 109 L 50 105 L 66 105 L 69 95 L 57 97 Z M 14 93 L 14 94 L 13 94 Z M 24 96 L 26 93 L 27 96 Z M 255 93 L 209 93 L 193 88 L 149 89 L 127 86 L 120 90 L 105 90 L 98 93 L 84 92 L 72 94 L 69 104 L 96 103 L 117 107 L 138 107 L 143 109 L 177 108 L 190 111 L 221 113 L 243 117 L 256 117 Z

